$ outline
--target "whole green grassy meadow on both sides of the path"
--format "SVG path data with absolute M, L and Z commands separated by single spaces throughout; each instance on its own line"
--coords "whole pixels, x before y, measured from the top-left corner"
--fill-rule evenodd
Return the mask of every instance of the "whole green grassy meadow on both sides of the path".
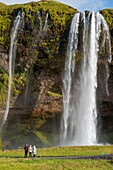
M 113 146 L 38 148 L 38 158 L 24 158 L 24 150 L 0 151 L 0 170 L 112 170 L 113 160 L 46 159 L 43 156 L 112 154 Z

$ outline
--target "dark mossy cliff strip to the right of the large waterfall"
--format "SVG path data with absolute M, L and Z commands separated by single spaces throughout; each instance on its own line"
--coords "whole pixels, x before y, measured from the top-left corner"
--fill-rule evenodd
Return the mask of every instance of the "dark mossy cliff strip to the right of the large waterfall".
M 97 92 L 97 106 L 99 112 L 99 121 L 98 128 L 101 129 L 100 141 L 108 141 L 112 143 L 113 141 L 113 9 L 104 9 L 100 13 L 104 16 L 105 20 L 108 23 L 110 36 L 111 36 L 111 55 L 112 61 L 109 65 L 109 79 L 108 79 L 108 89 L 109 95 L 106 96 L 103 91 L 104 83 L 101 82 L 101 79 L 104 75 L 104 68 L 101 62 L 98 63 L 98 75 L 99 83 L 101 88 L 98 88 Z

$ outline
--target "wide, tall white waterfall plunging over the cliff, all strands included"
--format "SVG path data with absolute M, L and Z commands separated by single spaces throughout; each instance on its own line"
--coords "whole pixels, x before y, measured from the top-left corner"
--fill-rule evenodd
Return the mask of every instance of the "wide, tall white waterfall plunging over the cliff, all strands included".
M 73 17 L 63 78 L 62 145 L 97 143 L 97 70 L 102 58 L 106 68 L 111 61 L 109 28 L 99 12 L 77 13 Z

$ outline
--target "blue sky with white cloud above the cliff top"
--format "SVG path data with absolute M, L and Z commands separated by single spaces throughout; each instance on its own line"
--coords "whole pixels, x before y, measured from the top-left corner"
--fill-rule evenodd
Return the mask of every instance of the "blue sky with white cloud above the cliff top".
M 22 4 L 31 1 L 35 0 L 0 0 L 0 2 L 3 2 L 8 5 L 18 3 Z M 57 0 L 57 1 L 72 6 L 78 9 L 79 11 L 85 10 L 99 11 L 105 8 L 113 8 L 113 0 Z

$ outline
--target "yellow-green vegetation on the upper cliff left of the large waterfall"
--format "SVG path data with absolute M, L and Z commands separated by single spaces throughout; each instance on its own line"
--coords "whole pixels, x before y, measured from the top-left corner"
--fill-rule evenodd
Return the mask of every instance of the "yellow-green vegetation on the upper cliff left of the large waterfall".
M 29 73 L 26 74 L 26 72 L 29 72 L 29 70 L 31 72 L 31 65 L 34 72 L 33 74 L 36 74 L 37 69 L 40 70 L 40 68 L 47 67 L 51 69 L 51 65 L 55 67 L 54 65 L 56 62 L 58 65 L 61 63 L 62 58 L 64 58 L 61 48 L 64 46 L 64 42 L 67 39 L 66 37 L 68 37 L 68 35 L 66 37 L 65 35 L 69 30 L 71 19 L 76 12 L 73 8 L 55 1 L 40 1 L 38 3 L 31 2 L 24 5 L 10 6 L 1 3 L 0 48 L 7 55 L 10 48 L 11 28 L 19 11 L 24 12 L 25 17 L 17 38 L 16 75 L 14 78 L 14 82 L 16 83 L 13 83 L 14 90 L 12 92 L 16 95 L 22 90 L 21 87 L 20 90 L 18 88 L 19 83 L 17 82 L 20 81 L 17 79 L 21 79 L 22 74 L 28 75 Z M 40 30 L 38 11 L 40 11 L 43 27 L 46 14 L 48 13 L 48 27 L 45 28 L 43 32 Z M 2 77 L 4 74 L 2 74 L 3 68 L 0 67 L 0 69 Z M 59 70 L 54 69 L 54 72 L 56 74 Z M 5 74 L 8 75 L 7 72 L 5 72 Z M 6 79 L 4 79 L 5 77 Z M 4 81 L 2 79 L 4 79 Z M 23 82 L 24 80 L 21 79 Z M 7 76 L 3 76 L 0 80 L 0 90 L 2 91 L 1 101 L 3 101 L 6 96 L 6 91 L 3 89 L 7 89 L 7 83 L 4 82 L 8 83 Z

